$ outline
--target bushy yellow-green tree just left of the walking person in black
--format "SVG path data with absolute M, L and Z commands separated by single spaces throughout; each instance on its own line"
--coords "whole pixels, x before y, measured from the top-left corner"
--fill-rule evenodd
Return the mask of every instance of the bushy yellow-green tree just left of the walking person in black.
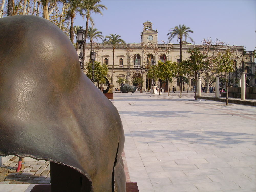
M 159 77 L 161 79 L 166 79 L 168 84 L 168 93 L 169 96 L 169 82 L 172 82 L 172 77 L 175 77 L 176 74 L 176 66 L 175 62 L 166 61 L 165 63 L 158 61 L 159 67 Z

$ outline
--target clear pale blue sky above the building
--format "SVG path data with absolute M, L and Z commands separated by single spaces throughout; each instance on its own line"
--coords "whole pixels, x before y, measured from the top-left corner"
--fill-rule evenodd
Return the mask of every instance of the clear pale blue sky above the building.
M 190 37 L 195 44 L 211 37 L 246 51 L 256 47 L 256 0 L 102 0 L 101 4 L 108 9 L 103 16 L 92 14 L 94 27 L 103 36 L 116 33 L 126 43 L 140 43 L 143 23 L 150 21 L 158 41 L 167 42 L 169 30 L 185 24 L 194 31 Z M 85 27 L 86 19 L 77 15 L 74 25 Z M 177 44 L 176 38 L 172 41 Z

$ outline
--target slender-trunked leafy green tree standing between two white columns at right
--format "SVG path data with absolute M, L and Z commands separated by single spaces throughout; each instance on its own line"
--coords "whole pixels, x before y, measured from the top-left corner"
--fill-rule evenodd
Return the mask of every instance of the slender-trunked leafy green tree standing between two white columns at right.
M 227 74 L 232 72 L 233 69 L 233 60 L 232 60 L 233 52 L 230 49 L 226 49 L 225 52 L 219 53 L 219 57 L 216 59 L 218 63 L 217 70 L 219 72 L 225 72 L 225 80 L 226 80 L 226 105 L 228 105 L 228 80 Z

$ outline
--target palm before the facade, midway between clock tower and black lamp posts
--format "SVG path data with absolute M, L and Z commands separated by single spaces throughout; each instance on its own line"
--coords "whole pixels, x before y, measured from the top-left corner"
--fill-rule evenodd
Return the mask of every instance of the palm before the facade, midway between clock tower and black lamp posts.
M 123 39 L 120 39 L 120 35 L 117 34 L 110 34 L 110 36 L 106 36 L 103 40 L 103 45 L 109 44 L 113 48 L 113 65 L 112 65 L 112 72 L 111 72 L 111 83 L 113 83 L 113 75 L 114 75 L 114 59 L 115 59 L 115 48 L 119 46 L 119 44 L 125 44 Z

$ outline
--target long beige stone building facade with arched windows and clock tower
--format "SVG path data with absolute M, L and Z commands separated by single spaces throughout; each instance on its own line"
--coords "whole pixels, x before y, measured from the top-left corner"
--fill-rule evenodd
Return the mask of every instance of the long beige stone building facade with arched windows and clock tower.
M 152 29 L 151 22 L 143 23 L 143 30 L 141 32 L 141 43 L 137 44 L 130 44 L 127 43 L 125 46 L 120 45 L 119 47 L 115 48 L 115 57 L 114 57 L 114 75 L 113 75 L 113 83 L 115 84 L 114 87 L 120 87 L 119 83 L 116 81 L 118 78 L 124 78 L 127 80 L 128 84 L 132 84 L 133 77 L 142 77 L 142 89 L 145 90 L 147 85 L 151 87 L 152 79 L 147 78 L 147 71 L 145 66 L 147 63 L 152 65 L 153 62 L 157 63 L 158 60 L 162 62 L 165 61 L 175 61 L 179 62 L 180 60 L 180 44 L 164 44 L 159 43 L 157 40 L 158 31 Z M 189 48 L 193 48 L 194 46 L 198 46 L 200 50 L 203 50 L 203 45 L 192 45 L 190 43 L 183 44 L 182 48 L 182 60 L 189 59 L 189 54 L 187 53 Z M 235 50 L 234 55 L 234 68 L 235 71 L 232 74 L 229 74 L 229 79 L 238 78 L 239 74 L 242 72 L 242 51 L 243 46 L 223 46 L 221 49 L 232 49 Z M 211 48 L 214 50 L 214 47 Z M 108 71 L 108 78 L 111 78 L 111 71 L 112 71 L 112 63 L 113 63 L 113 48 L 111 45 L 104 45 L 103 44 L 93 44 L 93 50 L 96 52 L 96 61 L 101 63 L 106 63 L 109 67 Z M 86 47 L 86 54 L 85 54 L 85 64 L 89 62 L 90 59 L 90 44 L 87 44 Z M 250 80 L 247 80 L 247 83 L 251 86 L 256 84 L 255 82 L 255 61 L 253 57 L 253 52 L 249 51 L 246 53 L 245 56 L 245 71 L 247 72 L 247 76 L 250 77 Z M 86 67 L 86 66 L 85 66 Z M 143 69 L 141 70 L 141 67 Z M 86 69 L 84 72 L 86 73 Z M 214 72 L 214 69 L 212 69 Z M 220 74 L 221 75 L 221 74 Z M 223 75 L 223 74 L 222 74 Z M 235 77 L 236 75 L 236 77 Z M 202 84 L 204 82 L 205 73 L 201 74 L 201 81 Z M 214 75 L 215 77 L 215 75 Z M 187 88 L 191 90 L 193 88 L 193 79 L 194 77 L 189 78 L 189 85 L 184 86 L 185 89 Z M 155 83 L 159 86 L 159 84 Z M 165 83 L 161 82 L 160 87 L 164 88 Z M 177 86 L 177 90 L 179 90 L 179 82 L 176 78 L 173 78 L 173 81 L 170 83 L 170 87 Z M 215 86 L 215 84 L 213 84 Z M 141 84 L 139 84 L 141 87 Z

